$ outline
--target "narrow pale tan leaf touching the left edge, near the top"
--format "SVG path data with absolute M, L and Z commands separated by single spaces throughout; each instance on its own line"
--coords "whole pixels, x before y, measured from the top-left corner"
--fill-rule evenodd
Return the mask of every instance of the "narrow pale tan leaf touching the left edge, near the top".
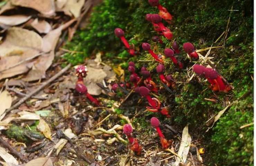
M 12 16 L 0 16 L 0 23 L 8 26 L 15 26 L 28 21 L 31 16 L 25 15 L 12 15 Z

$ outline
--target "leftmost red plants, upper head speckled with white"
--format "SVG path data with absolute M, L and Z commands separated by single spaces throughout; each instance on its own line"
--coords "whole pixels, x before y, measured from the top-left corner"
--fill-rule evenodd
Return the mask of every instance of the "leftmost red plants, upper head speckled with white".
M 86 77 L 86 73 L 88 72 L 86 66 L 79 65 L 76 68 L 76 76 L 78 77 L 75 89 L 76 91 L 81 94 L 85 95 L 92 103 L 94 103 L 97 106 L 100 106 L 100 103 L 97 99 L 93 98 L 92 95 L 90 95 L 87 92 L 87 87 L 84 85 L 83 79 Z

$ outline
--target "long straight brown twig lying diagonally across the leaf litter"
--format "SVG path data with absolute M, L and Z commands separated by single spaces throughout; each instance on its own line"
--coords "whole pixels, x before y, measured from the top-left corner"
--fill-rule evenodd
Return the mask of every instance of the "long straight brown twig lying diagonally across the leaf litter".
M 40 85 L 37 89 L 35 89 L 34 91 L 30 92 L 29 94 L 27 94 L 27 96 L 25 96 L 24 98 L 22 98 L 18 103 L 14 104 L 11 108 L 7 109 L 4 113 L 8 113 L 11 110 L 17 108 L 20 106 L 20 104 L 24 103 L 27 99 L 29 99 L 31 96 L 33 96 L 34 94 L 36 94 L 37 92 L 39 92 L 40 90 L 42 90 L 46 85 L 48 85 L 49 83 L 53 82 L 55 79 L 57 79 L 59 76 L 61 76 L 63 73 L 65 73 L 69 68 L 71 67 L 71 64 L 68 64 L 65 68 L 63 68 L 60 72 L 58 72 L 56 75 L 54 75 L 53 77 L 51 77 L 49 80 L 47 80 L 46 82 L 44 82 L 42 85 Z

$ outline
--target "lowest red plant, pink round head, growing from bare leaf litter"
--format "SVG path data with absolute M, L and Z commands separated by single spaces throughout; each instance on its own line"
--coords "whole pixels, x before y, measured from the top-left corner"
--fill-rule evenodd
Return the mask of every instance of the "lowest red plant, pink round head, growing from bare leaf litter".
M 132 127 L 130 124 L 125 124 L 123 127 L 123 132 L 124 134 L 127 136 L 130 145 L 129 148 L 134 151 L 136 153 L 136 155 L 140 155 L 141 154 L 141 145 L 139 145 L 138 139 L 137 138 L 133 138 L 131 136 L 132 133 Z

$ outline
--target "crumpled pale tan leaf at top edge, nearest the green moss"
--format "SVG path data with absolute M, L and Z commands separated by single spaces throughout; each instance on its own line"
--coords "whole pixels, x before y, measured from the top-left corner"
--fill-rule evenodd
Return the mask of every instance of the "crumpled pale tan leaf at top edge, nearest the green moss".
M 62 8 L 57 8 L 57 11 L 63 11 L 68 16 L 74 16 L 75 18 L 80 16 L 81 9 L 83 7 L 85 0 L 67 0 L 65 1 L 59 1 L 57 2 L 57 7 L 61 7 L 64 4 Z

